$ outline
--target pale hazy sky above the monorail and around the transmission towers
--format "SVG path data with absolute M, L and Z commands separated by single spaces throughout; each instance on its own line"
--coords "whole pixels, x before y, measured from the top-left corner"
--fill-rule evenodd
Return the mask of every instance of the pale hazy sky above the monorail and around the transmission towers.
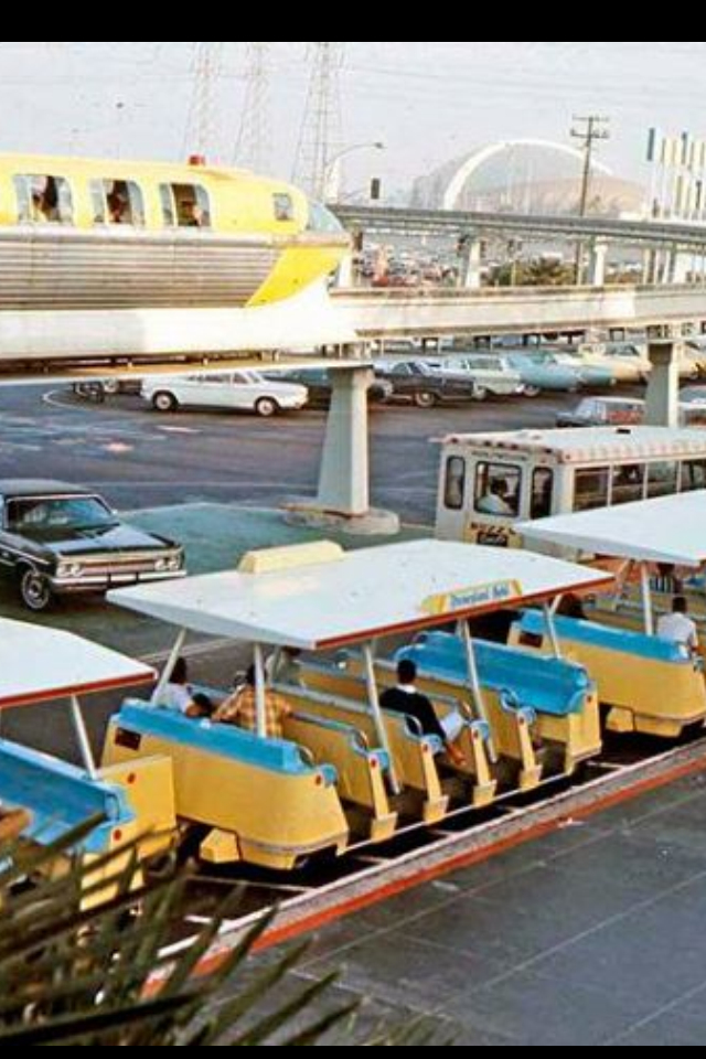
M 349 41 L 343 141 L 383 139 L 349 180 L 392 185 L 490 140 L 567 139 L 574 114 L 611 117 L 605 161 L 640 178 L 648 129 L 706 136 L 703 41 Z M 244 42 L 226 42 L 218 90 L 229 161 L 244 95 Z M 189 41 L 0 43 L 0 150 L 180 158 L 192 84 Z M 274 42 L 274 168 L 290 175 L 307 42 Z

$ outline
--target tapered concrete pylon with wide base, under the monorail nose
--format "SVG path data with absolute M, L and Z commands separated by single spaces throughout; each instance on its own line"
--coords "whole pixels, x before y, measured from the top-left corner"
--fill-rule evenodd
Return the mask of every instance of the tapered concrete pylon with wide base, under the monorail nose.
M 374 511 L 370 494 L 368 365 L 332 368 L 333 391 L 313 501 L 287 505 L 288 518 L 315 528 L 341 527 L 361 536 L 399 533 L 399 517 Z

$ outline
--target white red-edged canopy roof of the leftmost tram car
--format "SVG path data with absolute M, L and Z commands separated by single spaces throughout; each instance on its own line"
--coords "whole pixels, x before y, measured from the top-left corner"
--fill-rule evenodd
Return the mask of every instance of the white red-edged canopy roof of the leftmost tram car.
M 132 687 L 154 671 L 68 632 L 0 619 L 0 709 Z

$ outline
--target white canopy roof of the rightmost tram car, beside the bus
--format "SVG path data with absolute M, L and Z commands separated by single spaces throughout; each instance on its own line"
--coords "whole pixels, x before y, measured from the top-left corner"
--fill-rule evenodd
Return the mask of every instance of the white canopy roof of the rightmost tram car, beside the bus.
M 526 542 L 634 559 L 700 567 L 706 563 L 706 492 L 559 515 L 517 527 Z

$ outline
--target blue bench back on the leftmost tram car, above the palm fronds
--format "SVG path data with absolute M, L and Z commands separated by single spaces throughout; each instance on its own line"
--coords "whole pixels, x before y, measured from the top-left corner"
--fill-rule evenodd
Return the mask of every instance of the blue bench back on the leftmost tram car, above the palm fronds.
M 0 801 L 32 814 L 24 836 L 49 846 L 93 817 L 103 816 L 81 843 L 81 852 L 99 855 L 110 848 L 116 828 L 135 822 L 126 792 L 103 780 L 93 780 L 57 758 L 0 741 Z

